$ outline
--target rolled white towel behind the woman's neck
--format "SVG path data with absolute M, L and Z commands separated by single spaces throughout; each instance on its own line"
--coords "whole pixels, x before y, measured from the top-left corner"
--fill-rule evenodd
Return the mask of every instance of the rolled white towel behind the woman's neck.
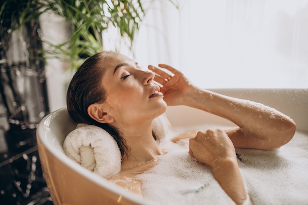
M 65 154 L 82 167 L 103 177 L 121 171 L 121 152 L 113 137 L 104 129 L 78 124 L 65 138 Z

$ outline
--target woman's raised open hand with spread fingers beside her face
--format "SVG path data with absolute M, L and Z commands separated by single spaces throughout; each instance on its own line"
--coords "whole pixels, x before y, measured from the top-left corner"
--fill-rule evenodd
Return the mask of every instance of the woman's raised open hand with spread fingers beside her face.
M 158 66 L 172 73 L 170 75 L 153 65 L 148 66 L 149 70 L 155 73 L 154 81 L 161 85 L 160 91 L 164 94 L 165 102 L 169 106 L 182 105 L 185 100 L 184 97 L 189 93 L 189 89 L 192 88 L 191 83 L 177 69 L 166 64 L 158 64 Z

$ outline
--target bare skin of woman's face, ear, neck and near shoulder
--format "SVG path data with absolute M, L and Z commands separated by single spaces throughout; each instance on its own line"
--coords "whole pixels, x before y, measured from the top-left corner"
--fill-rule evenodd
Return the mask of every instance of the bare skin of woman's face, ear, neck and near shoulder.
M 141 182 L 134 177 L 156 163 L 163 152 L 152 135 L 152 120 L 166 110 L 166 102 L 159 87 L 154 84 L 154 73 L 142 70 L 132 59 L 111 54 L 104 62 L 105 72 L 101 80 L 107 92 L 102 103 L 88 107 L 88 114 L 100 123 L 116 127 L 125 140 L 128 154 L 122 157 L 121 172 L 110 180 L 141 193 Z

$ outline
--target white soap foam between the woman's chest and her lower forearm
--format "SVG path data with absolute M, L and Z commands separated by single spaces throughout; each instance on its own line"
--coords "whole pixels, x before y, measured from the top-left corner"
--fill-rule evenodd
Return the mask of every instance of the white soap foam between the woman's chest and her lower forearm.
M 155 205 L 204 205 L 204 199 L 208 198 L 211 199 L 208 204 L 233 204 L 214 179 L 210 167 L 197 162 L 183 147 L 185 143 L 181 146 L 162 143 L 164 147 L 169 144 L 168 149 L 164 148 L 167 153 L 158 156 L 158 165 L 138 176 L 147 200 Z

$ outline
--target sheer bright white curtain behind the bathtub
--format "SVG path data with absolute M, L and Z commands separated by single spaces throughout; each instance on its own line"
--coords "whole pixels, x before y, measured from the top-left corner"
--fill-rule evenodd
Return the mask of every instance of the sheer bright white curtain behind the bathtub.
M 169 63 L 202 88 L 308 88 L 308 0 L 177 3 L 147 11 L 131 56 L 144 67 Z

